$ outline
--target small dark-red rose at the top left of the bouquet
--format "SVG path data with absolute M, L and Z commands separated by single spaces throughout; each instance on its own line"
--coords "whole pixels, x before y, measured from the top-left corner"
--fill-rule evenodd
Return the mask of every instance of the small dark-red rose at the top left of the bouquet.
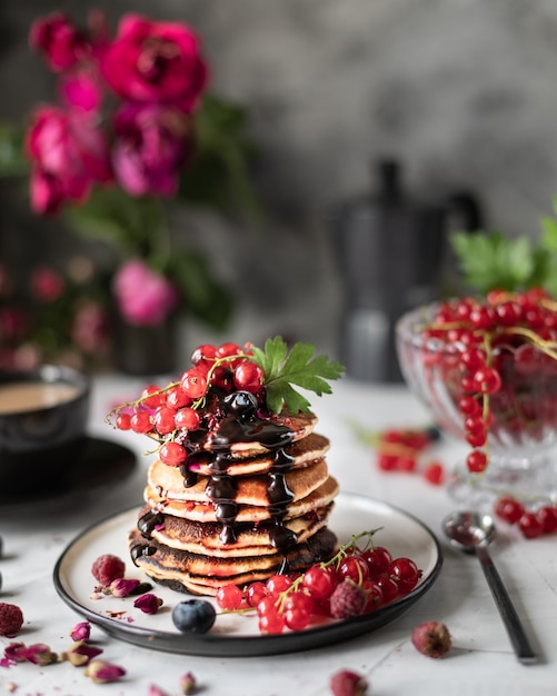
M 33 22 L 29 43 L 31 48 L 43 53 L 54 72 L 72 68 L 90 50 L 86 37 L 62 12 L 53 12 L 46 19 Z

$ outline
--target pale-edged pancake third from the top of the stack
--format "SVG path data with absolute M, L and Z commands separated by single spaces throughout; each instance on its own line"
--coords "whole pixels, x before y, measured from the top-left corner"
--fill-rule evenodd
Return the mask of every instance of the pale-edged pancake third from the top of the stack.
M 325 459 L 318 459 L 312 464 L 300 468 L 289 469 L 282 473 L 268 473 L 258 476 L 223 475 L 227 486 L 233 491 L 233 499 L 238 505 L 267 506 L 290 503 L 308 496 L 327 480 L 328 469 Z M 277 499 L 273 490 L 278 483 L 276 478 L 284 476 L 284 499 Z M 183 476 L 176 467 L 169 467 L 160 460 L 151 464 L 147 475 L 148 487 L 157 491 L 158 497 L 169 500 L 191 500 L 195 503 L 212 503 L 216 494 L 215 487 L 222 475 L 198 476 L 196 484 L 185 487 Z

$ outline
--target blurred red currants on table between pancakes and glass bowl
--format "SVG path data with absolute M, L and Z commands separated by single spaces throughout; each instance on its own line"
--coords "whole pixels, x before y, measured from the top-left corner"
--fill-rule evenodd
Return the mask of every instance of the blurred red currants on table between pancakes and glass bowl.
M 420 457 L 438 439 L 436 428 L 388 428 L 380 431 L 374 441 L 377 466 L 381 471 L 417 473 Z M 420 468 L 424 478 L 439 486 L 445 479 L 440 461 L 429 460 Z

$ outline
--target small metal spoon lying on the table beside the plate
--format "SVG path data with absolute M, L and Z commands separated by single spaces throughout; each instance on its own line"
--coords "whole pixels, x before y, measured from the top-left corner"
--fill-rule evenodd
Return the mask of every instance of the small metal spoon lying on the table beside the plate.
M 451 513 L 442 520 L 442 529 L 452 546 L 459 550 L 476 553 L 517 658 L 526 664 L 537 662 L 536 653 L 487 550 L 496 531 L 493 518 L 480 513 Z

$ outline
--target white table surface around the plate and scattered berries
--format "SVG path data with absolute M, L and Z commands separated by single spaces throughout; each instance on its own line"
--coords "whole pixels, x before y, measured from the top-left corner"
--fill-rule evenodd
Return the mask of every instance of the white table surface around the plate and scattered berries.
M 90 434 L 113 439 L 137 453 L 138 465 L 129 478 L 69 509 L 0 509 L 4 541 L 0 600 L 22 608 L 26 624 L 18 639 L 27 644 L 43 642 L 56 652 L 69 646 L 69 630 L 81 618 L 54 590 L 54 564 L 80 530 L 141 501 L 149 460 L 143 456 L 146 440 L 112 430 L 103 417 L 113 402 L 133 398 L 145 384 L 142 378 L 102 376 L 96 379 L 93 389 Z M 478 561 L 452 550 L 441 538 L 439 523 L 455 507 L 446 490 L 418 476 L 379 473 L 371 450 L 355 439 L 348 425 L 355 419 L 369 428 L 421 426 L 429 421 L 424 408 L 402 386 L 364 385 L 345 378 L 334 385 L 331 396 L 315 399 L 314 410 L 319 417 L 317 430 L 331 440 L 328 464 L 341 489 L 407 510 L 428 525 L 441 543 L 445 560 L 440 576 L 409 612 L 379 630 L 346 643 L 257 658 L 151 652 L 108 637 L 93 627 L 91 639 L 103 648 L 101 657 L 125 667 L 123 679 L 96 685 L 68 663 L 47 667 L 18 664 L 0 666 L 0 694 L 16 689 L 18 696 L 147 696 L 155 684 L 177 695 L 180 676 L 191 670 L 207 696 L 322 696 L 330 693 L 330 675 L 342 668 L 366 676 L 370 694 L 381 696 L 556 694 L 557 535 L 524 540 L 516 530 L 501 528 L 493 547 L 497 568 L 541 654 L 539 664 L 525 666 L 514 656 Z M 465 451 L 464 446 L 447 441 L 437 450 L 447 465 Z M 445 622 L 451 632 L 454 647 L 442 659 L 424 657 L 410 643 L 412 628 L 428 619 Z M 9 642 L 0 637 L 1 653 Z

